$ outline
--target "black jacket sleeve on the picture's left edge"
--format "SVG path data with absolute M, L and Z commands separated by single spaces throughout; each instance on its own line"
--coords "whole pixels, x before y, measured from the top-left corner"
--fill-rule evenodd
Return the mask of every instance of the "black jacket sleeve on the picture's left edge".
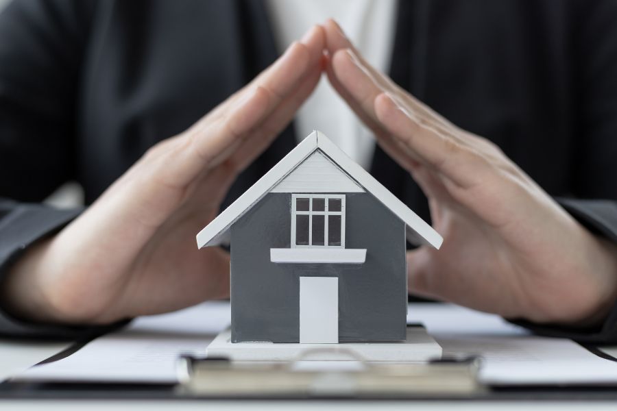
M 0 13 L 0 282 L 24 249 L 80 212 L 40 201 L 74 178 L 76 80 L 90 12 L 88 1 L 21 0 Z M 23 323 L 0 309 L 3 335 L 83 331 Z

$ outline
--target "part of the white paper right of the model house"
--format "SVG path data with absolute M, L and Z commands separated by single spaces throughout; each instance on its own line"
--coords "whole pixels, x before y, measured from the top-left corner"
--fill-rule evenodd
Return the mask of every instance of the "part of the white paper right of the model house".
M 418 304 L 409 307 L 407 321 L 424 323 L 444 356 L 481 356 L 487 384 L 617 384 L 617 362 L 571 340 L 533 336 L 500 316 Z

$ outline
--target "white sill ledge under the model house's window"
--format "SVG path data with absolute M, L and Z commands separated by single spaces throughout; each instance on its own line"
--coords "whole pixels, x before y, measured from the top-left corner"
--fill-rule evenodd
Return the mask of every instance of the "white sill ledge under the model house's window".
M 270 249 L 271 262 L 291 262 L 296 264 L 363 264 L 366 249 L 328 249 L 328 248 L 289 248 Z

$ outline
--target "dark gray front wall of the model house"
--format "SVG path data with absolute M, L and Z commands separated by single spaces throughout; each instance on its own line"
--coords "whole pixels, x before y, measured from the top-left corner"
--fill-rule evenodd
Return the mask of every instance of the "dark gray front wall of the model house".
M 269 193 L 231 228 L 232 341 L 298 343 L 300 277 L 339 277 L 339 340 L 404 340 L 404 223 L 368 193 L 348 193 L 346 248 L 364 264 L 276 264 L 291 244 L 291 194 Z

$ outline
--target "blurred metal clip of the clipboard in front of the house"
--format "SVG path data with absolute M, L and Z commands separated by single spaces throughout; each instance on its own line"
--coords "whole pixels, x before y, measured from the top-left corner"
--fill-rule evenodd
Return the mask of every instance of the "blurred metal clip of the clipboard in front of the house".
M 323 349 L 318 349 L 322 351 Z M 353 351 L 356 369 L 306 369 L 308 350 L 291 362 L 232 362 L 228 358 L 178 359 L 185 397 L 234 398 L 414 398 L 478 397 L 487 388 L 478 379 L 478 357 L 446 358 L 424 363 L 366 362 Z

